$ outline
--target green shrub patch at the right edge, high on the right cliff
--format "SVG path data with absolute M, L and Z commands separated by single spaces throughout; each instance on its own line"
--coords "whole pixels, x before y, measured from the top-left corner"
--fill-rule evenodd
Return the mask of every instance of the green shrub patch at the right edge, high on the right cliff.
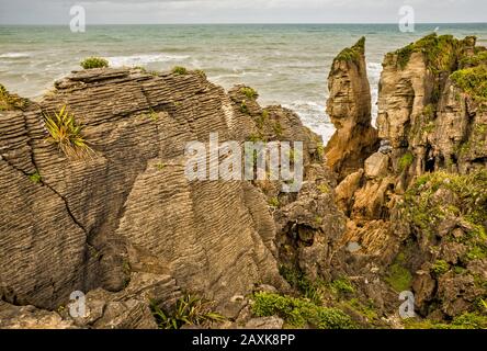
M 487 103 L 487 65 L 457 70 L 450 78 L 478 103 Z

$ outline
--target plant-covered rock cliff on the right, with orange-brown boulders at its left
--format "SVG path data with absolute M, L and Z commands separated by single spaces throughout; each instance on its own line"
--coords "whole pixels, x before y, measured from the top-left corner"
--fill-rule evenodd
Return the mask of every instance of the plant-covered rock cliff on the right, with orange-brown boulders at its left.
M 487 297 L 486 57 L 474 37 L 435 34 L 386 55 L 380 151 L 336 189 L 341 244 L 356 246 L 342 253 L 348 274 L 411 290 L 437 321 L 482 314 Z

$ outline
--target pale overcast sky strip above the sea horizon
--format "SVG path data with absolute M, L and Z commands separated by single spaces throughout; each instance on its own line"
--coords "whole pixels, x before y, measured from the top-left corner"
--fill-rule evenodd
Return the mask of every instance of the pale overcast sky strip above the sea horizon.
M 67 24 L 81 4 L 87 23 L 397 23 L 487 22 L 487 0 L 0 0 L 0 24 Z

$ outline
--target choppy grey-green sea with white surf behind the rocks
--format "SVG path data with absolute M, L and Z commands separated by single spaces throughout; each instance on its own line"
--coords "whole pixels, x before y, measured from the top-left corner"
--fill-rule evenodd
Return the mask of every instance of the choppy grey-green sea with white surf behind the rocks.
M 294 110 L 327 141 L 335 131 L 325 112 L 333 57 L 366 37 L 375 121 L 384 55 L 433 31 L 476 35 L 479 45 L 487 45 L 487 23 L 417 24 L 414 33 L 401 33 L 397 24 L 91 25 L 86 33 L 71 33 L 68 26 L 0 25 L 0 83 L 38 99 L 56 79 L 80 69 L 88 56 L 148 70 L 197 68 L 226 89 L 237 83 L 257 89 L 262 105 Z

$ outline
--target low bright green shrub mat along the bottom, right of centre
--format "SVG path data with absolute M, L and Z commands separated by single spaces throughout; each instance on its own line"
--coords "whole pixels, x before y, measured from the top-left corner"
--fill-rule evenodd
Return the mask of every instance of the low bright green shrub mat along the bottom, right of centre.
M 252 313 L 258 317 L 280 316 L 295 328 L 353 329 L 349 315 L 338 308 L 318 306 L 304 298 L 272 293 L 253 295 Z

